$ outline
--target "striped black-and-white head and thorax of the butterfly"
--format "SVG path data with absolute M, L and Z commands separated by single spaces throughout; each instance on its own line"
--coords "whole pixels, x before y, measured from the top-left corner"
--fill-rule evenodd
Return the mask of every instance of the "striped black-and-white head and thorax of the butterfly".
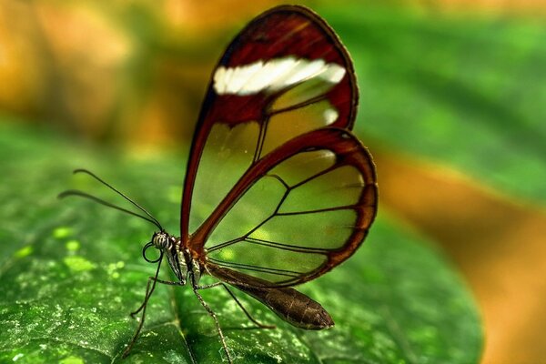
M 197 285 L 201 278 L 201 266 L 192 258 L 188 248 L 182 248 L 180 238 L 160 231 L 154 233 L 152 243 L 167 256 L 168 265 L 183 285 L 187 279 L 193 286 Z

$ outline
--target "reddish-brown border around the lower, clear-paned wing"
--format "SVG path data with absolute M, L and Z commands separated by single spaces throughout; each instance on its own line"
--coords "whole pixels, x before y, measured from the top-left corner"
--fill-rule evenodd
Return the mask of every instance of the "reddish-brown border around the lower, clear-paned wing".
M 326 127 L 291 139 L 259 160 L 254 167 L 248 169 L 247 173 L 239 179 L 236 186 L 227 194 L 227 197 L 222 200 L 211 216 L 207 218 L 203 225 L 197 229 L 196 234 L 192 236 L 192 240 L 196 239 L 195 244 L 192 244 L 193 241 L 190 241 L 188 246 L 196 252 L 195 255 L 201 259 L 201 263 L 206 267 L 211 267 L 213 270 L 218 269 L 214 264 L 208 262 L 206 258 L 203 259 L 205 257 L 205 254 L 203 254 L 204 242 L 214 227 L 216 227 L 220 218 L 227 213 L 229 208 L 235 205 L 238 198 L 248 188 L 252 187 L 253 183 L 259 177 L 265 176 L 271 168 L 276 167 L 279 163 L 294 154 L 325 148 L 331 150 L 337 156 L 334 167 L 345 165 L 356 167 L 363 177 L 364 187 L 362 188 L 359 202 L 354 206 L 354 210 L 357 212 L 357 221 L 353 232 L 341 248 L 333 249 L 326 254 L 328 259 L 319 268 L 298 278 L 274 284 L 268 282 L 267 287 L 289 287 L 318 278 L 353 255 L 368 235 L 369 227 L 377 215 L 379 190 L 375 165 L 368 149 L 351 132 L 337 127 Z

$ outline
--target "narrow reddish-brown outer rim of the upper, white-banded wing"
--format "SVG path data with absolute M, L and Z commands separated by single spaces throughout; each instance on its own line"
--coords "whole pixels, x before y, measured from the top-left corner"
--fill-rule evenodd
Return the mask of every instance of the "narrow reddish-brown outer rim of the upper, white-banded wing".
M 339 50 L 339 53 L 341 54 L 343 61 L 345 63 L 344 66 L 348 70 L 347 74 L 349 76 L 349 85 L 351 90 L 350 106 L 349 106 L 350 115 L 349 117 L 347 117 L 347 124 L 340 125 L 338 122 L 336 122 L 334 123 L 333 126 L 351 130 L 355 123 L 355 118 L 357 115 L 357 109 L 359 105 L 359 87 L 357 84 L 357 79 L 355 76 L 355 70 L 354 70 L 352 60 L 349 56 L 349 52 L 347 51 L 347 48 L 341 43 L 339 36 L 335 33 L 332 27 L 320 15 L 318 15 L 317 13 L 315 13 L 314 11 L 312 11 L 306 6 L 278 5 L 262 13 L 261 15 L 258 15 L 256 18 L 250 21 L 248 25 L 246 25 L 238 33 L 238 35 L 234 37 L 234 39 L 231 41 L 229 45 L 227 45 L 226 50 L 224 51 L 224 53 L 218 60 L 217 65 L 213 68 L 213 70 L 216 70 L 218 66 L 226 62 L 226 59 L 229 57 L 231 53 L 231 49 L 237 45 L 240 36 L 243 35 L 245 32 L 247 32 L 248 28 L 255 25 L 257 22 L 261 22 L 265 17 L 268 17 L 269 15 L 277 14 L 281 12 L 298 13 L 300 15 L 307 17 L 314 24 L 319 25 L 319 27 L 324 31 L 324 33 L 329 36 L 329 39 L 332 45 L 335 45 L 336 48 Z M 207 118 L 206 117 L 207 110 L 209 106 L 214 102 L 215 96 L 216 96 L 216 94 L 212 90 L 212 85 L 213 85 L 213 79 L 211 77 L 208 81 L 207 94 L 203 100 L 203 104 L 201 105 L 199 116 L 197 118 L 197 124 L 195 128 L 194 136 L 192 138 L 191 147 L 189 149 L 190 153 L 187 159 L 186 176 L 184 177 L 182 201 L 181 201 L 181 207 L 180 207 L 180 237 L 181 237 L 182 244 L 184 246 L 187 246 L 187 244 L 189 243 L 188 223 L 189 223 L 189 214 L 191 210 L 190 208 L 191 197 L 193 194 L 194 183 L 197 177 L 197 168 L 199 166 L 199 159 L 201 158 L 201 155 L 203 154 L 203 149 L 207 142 L 208 132 L 210 131 L 210 128 L 212 126 L 212 125 L 205 126 L 205 120 Z

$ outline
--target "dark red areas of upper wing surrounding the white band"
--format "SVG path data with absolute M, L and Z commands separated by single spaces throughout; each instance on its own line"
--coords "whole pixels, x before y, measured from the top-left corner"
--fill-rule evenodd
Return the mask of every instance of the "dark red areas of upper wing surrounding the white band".
M 330 126 L 351 129 L 357 111 L 358 88 L 349 54 L 329 25 L 306 7 L 282 5 L 259 15 L 227 46 L 215 72 L 219 66 L 246 65 L 258 59 L 286 56 L 309 60 L 320 58 L 345 68 L 345 76 L 327 92 L 325 98 L 339 112 L 338 119 Z M 211 80 L 187 163 L 180 218 L 183 244 L 187 244 L 189 239 L 188 221 L 199 159 L 212 126 L 252 121 L 263 124 L 268 117 L 268 107 L 276 96 L 264 93 L 217 95 Z

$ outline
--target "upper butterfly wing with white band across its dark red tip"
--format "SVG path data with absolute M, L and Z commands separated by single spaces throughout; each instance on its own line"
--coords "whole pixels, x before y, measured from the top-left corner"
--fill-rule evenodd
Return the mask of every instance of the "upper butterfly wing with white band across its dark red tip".
M 187 166 L 183 244 L 202 248 L 190 234 L 268 153 L 321 127 L 350 129 L 357 100 L 349 56 L 318 15 L 285 5 L 253 20 L 208 86 Z

